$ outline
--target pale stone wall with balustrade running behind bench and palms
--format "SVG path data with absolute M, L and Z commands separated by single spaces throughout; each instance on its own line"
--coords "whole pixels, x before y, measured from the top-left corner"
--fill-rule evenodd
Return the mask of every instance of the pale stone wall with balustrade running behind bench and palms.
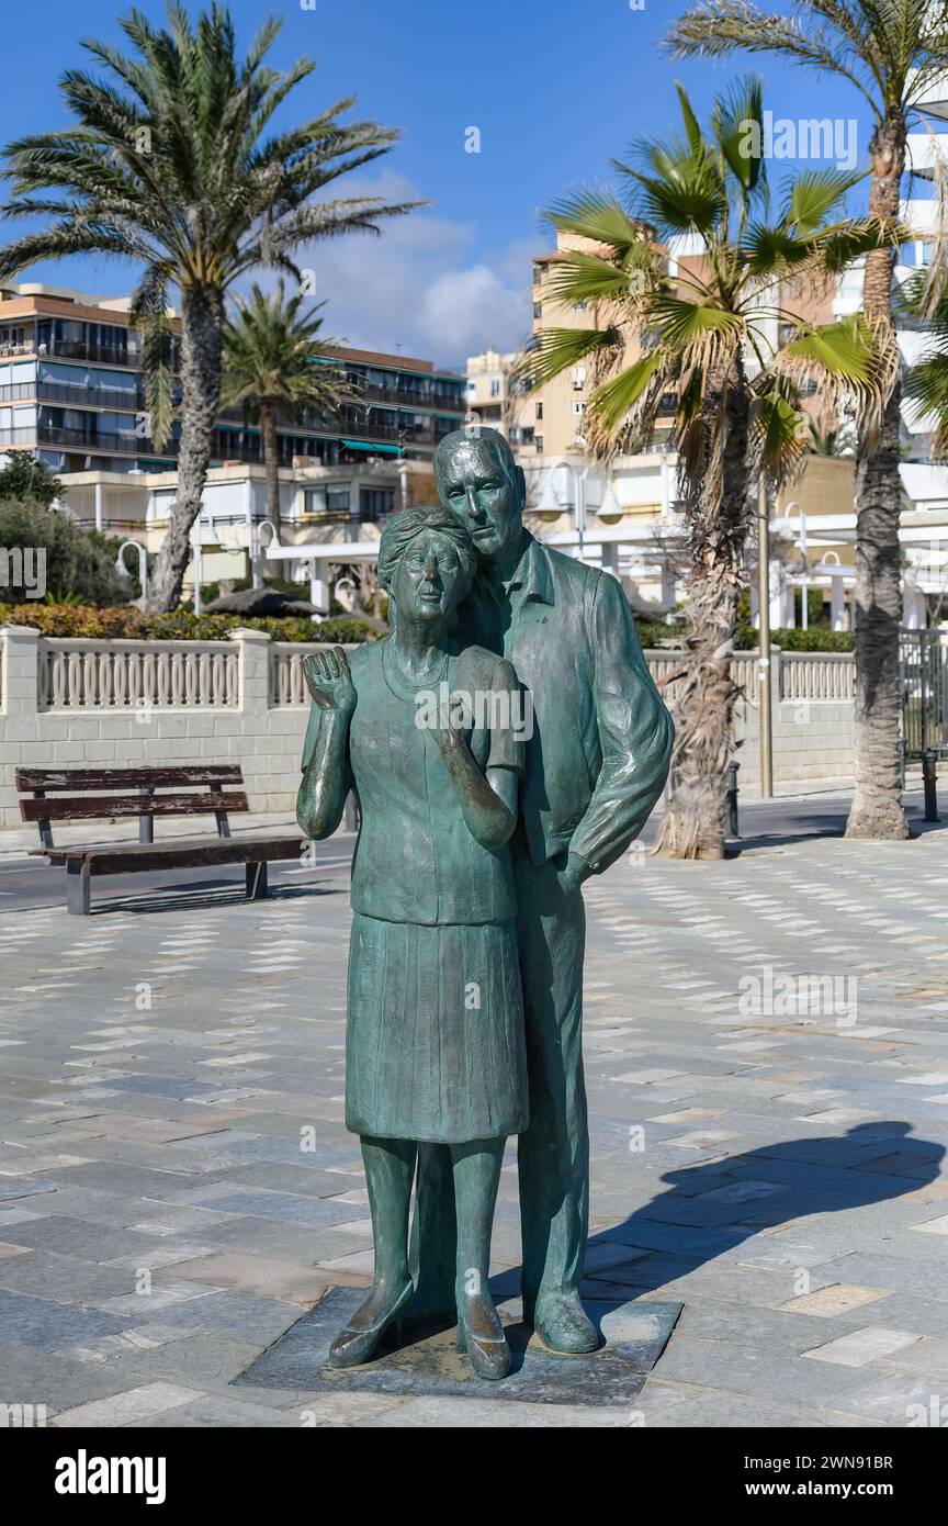
M 14 769 L 239 763 L 251 810 L 291 812 L 306 726 L 303 658 L 317 642 L 235 630 L 229 641 L 87 641 L 0 629 L 0 827 L 20 826 Z M 677 652 L 648 652 L 657 679 Z M 773 655 L 777 781 L 852 769 L 852 656 Z M 757 655 L 739 652 L 741 786 L 756 783 Z M 663 688 L 669 705 L 675 682 Z

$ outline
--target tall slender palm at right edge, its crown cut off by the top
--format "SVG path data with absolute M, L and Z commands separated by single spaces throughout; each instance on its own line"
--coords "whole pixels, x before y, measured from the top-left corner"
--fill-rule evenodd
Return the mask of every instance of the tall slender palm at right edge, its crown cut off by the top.
M 847 79 L 873 116 L 870 217 L 895 224 L 905 140 L 916 104 L 948 60 L 943 0 L 794 0 L 794 20 L 750 0 L 703 0 L 668 43 L 678 58 L 724 58 L 738 49 L 782 53 Z M 895 351 L 892 275 L 896 244 L 866 258 L 863 308 L 879 343 Z M 899 765 L 899 404 L 890 365 L 881 427 L 860 430 L 857 465 L 857 766 L 847 836 L 905 838 Z

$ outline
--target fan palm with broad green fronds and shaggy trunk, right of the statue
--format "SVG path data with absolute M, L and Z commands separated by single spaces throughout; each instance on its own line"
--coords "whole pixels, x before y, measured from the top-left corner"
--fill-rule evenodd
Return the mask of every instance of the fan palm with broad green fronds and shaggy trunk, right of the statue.
M 546 328 L 521 362 L 532 385 L 591 359 L 599 385 L 587 406 L 594 455 L 637 450 L 663 400 L 674 403 L 672 443 L 687 519 L 687 652 L 677 670 L 672 787 L 660 847 L 675 856 L 724 852 L 725 769 L 733 748 L 732 681 L 745 540 L 764 472 L 774 485 L 808 452 L 799 385 L 820 378 L 825 397 L 873 395 L 875 351 L 857 316 L 812 325 L 786 305 L 879 233 L 840 217 L 852 177 L 800 175 L 767 223 L 765 165 L 747 125 L 762 124 L 759 84 L 739 85 L 703 130 L 678 89 L 684 137 L 642 142 L 643 168 L 616 163 L 631 186 L 579 192 L 547 214 L 579 247 L 549 276 L 562 304 L 594 305 L 593 328 Z M 700 241 L 700 259 L 669 275 L 668 250 Z M 788 342 L 777 345 L 777 334 Z M 629 362 L 629 348 L 639 348 Z

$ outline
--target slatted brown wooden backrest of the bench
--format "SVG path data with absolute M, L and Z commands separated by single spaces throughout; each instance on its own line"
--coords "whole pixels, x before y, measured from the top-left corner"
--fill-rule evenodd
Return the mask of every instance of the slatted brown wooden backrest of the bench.
M 20 794 L 32 792 L 30 800 L 20 801 L 20 816 L 23 821 L 37 823 L 44 848 L 53 847 L 53 821 L 137 816 L 139 839 L 151 842 L 155 816 L 197 816 L 212 812 L 219 836 L 227 838 L 229 812 L 250 809 L 242 789 L 224 787 L 244 783 L 236 763 L 184 768 L 18 768 L 15 778 Z M 168 794 L 155 794 L 160 789 Z M 79 795 L 72 794 L 73 790 L 91 794 Z

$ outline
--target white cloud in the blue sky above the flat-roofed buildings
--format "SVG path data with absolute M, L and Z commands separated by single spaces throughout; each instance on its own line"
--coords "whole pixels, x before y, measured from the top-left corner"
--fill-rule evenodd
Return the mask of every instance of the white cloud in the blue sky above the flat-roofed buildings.
M 346 183 L 346 195 L 419 200 L 393 172 Z M 309 244 L 297 253 L 315 273 L 314 298 L 326 298 L 325 333 L 357 349 L 421 356 L 463 368 L 465 357 L 512 349 L 530 328 L 530 264 L 521 241 L 489 264 L 476 259 L 477 229 L 422 209 L 357 233 Z

